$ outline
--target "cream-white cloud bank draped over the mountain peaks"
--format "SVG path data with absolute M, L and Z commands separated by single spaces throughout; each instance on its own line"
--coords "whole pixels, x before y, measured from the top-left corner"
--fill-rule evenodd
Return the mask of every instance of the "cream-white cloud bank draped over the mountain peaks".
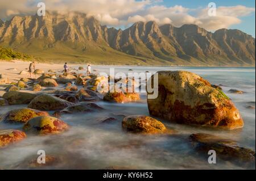
M 58 10 L 63 14 L 79 11 L 95 16 L 102 25 L 128 26 L 135 22 L 154 20 L 156 23 L 171 23 L 176 27 L 197 24 L 207 30 L 228 28 L 241 23 L 241 17 L 255 12 L 254 7 L 220 6 L 217 15 L 209 16 L 208 8 L 189 9 L 183 6 L 166 7 L 159 0 L 44 0 L 47 10 Z M 1 0 L 0 18 L 7 19 L 15 14 L 35 14 L 35 0 Z

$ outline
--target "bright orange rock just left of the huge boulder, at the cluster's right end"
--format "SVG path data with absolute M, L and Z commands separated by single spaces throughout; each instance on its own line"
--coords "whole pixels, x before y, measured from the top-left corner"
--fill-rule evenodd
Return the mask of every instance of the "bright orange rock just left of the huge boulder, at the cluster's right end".
M 104 95 L 104 100 L 113 103 L 127 103 L 136 102 L 140 99 L 137 92 L 123 93 L 123 92 L 108 92 Z

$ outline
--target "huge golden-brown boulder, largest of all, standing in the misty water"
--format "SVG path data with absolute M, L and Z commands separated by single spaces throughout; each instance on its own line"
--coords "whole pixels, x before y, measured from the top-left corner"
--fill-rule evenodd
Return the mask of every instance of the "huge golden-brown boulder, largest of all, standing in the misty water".
M 158 97 L 149 96 L 150 93 L 148 110 L 153 116 L 183 124 L 226 129 L 243 127 L 240 112 L 228 96 L 188 71 L 159 71 Z

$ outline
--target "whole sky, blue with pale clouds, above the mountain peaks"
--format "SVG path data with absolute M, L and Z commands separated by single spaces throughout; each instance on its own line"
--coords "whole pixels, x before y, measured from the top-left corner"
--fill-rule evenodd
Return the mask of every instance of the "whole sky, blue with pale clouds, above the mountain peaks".
M 49 11 L 84 12 L 108 27 L 124 29 L 138 21 L 154 20 L 160 26 L 196 24 L 212 32 L 238 29 L 255 37 L 254 0 L 1 0 L 0 19 L 35 14 L 38 2 L 44 2 Z M 216 13 L 209 9 L 210 2 L 216 6 Z

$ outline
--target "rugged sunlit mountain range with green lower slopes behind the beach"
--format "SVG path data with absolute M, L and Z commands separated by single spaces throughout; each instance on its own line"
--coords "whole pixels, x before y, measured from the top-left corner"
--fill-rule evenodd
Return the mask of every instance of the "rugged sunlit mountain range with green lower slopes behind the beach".
M 44 60 L 109 65 L 255 66 L 255 38 L 240 30 L 209 32 L 138 22 L 126 30 L 101 26 L 80 12 L 15 15 L 0 20 L 0 46 Z

